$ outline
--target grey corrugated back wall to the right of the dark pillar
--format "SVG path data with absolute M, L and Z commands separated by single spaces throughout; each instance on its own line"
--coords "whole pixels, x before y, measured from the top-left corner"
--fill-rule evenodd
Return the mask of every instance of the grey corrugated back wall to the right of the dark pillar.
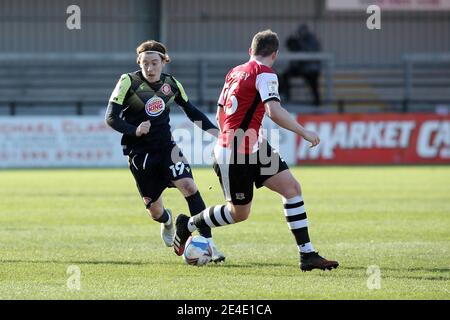
M 271 28 L 286 39 L 300 23 L 341 65 L 399 63 L 404 52 L 450 50 L 449 11 L 383 11 L 385 32 L 377 32 L 366 28 L 365 11 L 327 11 L 317 0 L 169 0 L 165 8 L 168 44 L 176 51 L 242 51 L 257 30 Z

